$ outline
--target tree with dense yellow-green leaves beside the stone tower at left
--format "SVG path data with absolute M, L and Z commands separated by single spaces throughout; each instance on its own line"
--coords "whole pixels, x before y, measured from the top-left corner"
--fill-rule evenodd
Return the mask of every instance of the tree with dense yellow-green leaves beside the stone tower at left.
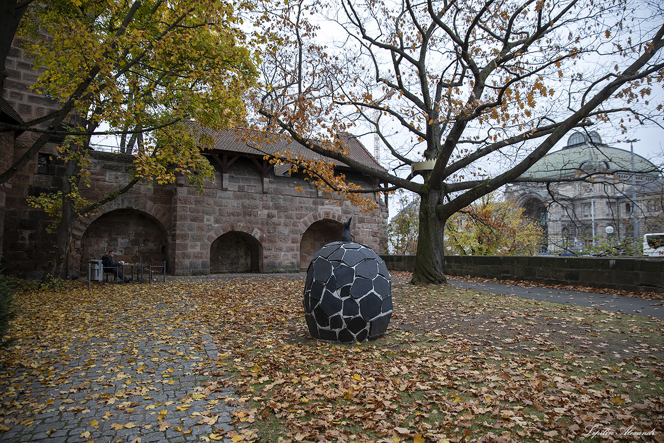
M 140 180 L 171 183 L 183 175 L 201 185 L 212 177 L 202 155 L 211 140 L 193 135 L 187 122 L 212 130 L 241 122 L 244 93 L 256 78 L 255 60 L 244 46 L 240 5 L 230 1 L 45 0 L 3 7 L 12 5 L 23 8 L 9 18 L 20 18 L 17 36 L 40 70 L 33 88 L 57 100 L 58 108 L 20 126 L 0 124 L 1 131 L 37 134 L 25 155 L 0 174 L 0 183 L 52 133 L 66 137 L 58 148 L 65 162 L 62 189 L 32 200 L 58 222 L 48 280 L 64 272 L 79 215 Z M 129 183 L 101 201 L 87 201 L 81 189 L 91 137 L 98 134 L 117 135 L 134 163 Z

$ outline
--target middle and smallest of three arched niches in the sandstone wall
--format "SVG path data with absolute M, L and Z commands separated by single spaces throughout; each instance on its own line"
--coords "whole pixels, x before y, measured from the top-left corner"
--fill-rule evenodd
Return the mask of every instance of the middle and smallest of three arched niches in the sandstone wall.
M 231 231 L 210 245 L 210 274 L 260 272 L 263 247 L 246 232 Z

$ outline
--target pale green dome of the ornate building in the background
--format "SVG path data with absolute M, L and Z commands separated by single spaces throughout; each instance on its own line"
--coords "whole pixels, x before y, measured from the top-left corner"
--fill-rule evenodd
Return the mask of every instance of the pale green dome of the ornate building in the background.
M 634 170 L 651 171 L 639 173 L 647 181 L 657 179 L 657 167 L 651 161 L 634 154 Z M 573 177 L 580 173 L 629 174 L 631 152 L 602 143 L 597 132 L 574 132 L 567 139 L 567 145 L 548 153 L 523 174 L 523 177 L 554 179 Z M 640 178 L 639 178 L 640 179 Z

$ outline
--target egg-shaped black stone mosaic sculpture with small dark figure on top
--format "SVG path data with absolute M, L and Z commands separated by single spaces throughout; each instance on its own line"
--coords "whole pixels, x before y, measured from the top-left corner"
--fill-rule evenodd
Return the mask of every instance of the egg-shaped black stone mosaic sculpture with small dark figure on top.
M 341 238 L 350 238 L 347 223 Z M 349 240 L 328 243 L 309 264 L 303 304 L 309 333 L 316 339 L 378 339 L 392 317 L 390 272 L 369 246 Z

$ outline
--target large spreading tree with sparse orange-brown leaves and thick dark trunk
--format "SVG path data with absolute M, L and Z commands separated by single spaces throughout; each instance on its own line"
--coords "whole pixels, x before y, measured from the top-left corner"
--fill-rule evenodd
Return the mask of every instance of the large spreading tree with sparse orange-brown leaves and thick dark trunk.
M 328 184 L 343 195 L 418 194 L 412 283 L 444 283 L 458 211 L 535 181 L 524 173 L 570 130 L 661 123 L 649 94 L 664 80 L 662 17 L 642 1 L 275 2 L 257 21 L 278 38 L 264 43 L 254 123 L 381 183 Z M 377 136 L 390 170 L 353 161 L 345 132 Z

